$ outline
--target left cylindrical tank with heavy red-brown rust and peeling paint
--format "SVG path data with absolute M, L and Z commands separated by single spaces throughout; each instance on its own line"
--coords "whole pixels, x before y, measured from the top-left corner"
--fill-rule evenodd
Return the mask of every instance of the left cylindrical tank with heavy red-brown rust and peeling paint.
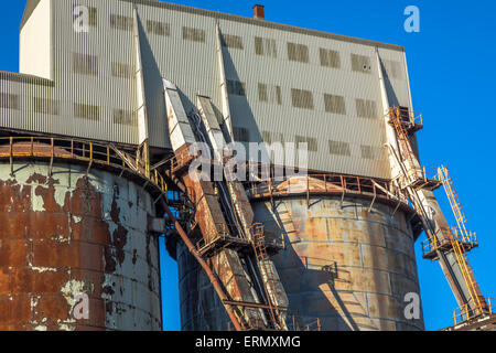
M 150 195 L 96 168 L 50 169 L 0 164 L 0 330 L 161 330 Z

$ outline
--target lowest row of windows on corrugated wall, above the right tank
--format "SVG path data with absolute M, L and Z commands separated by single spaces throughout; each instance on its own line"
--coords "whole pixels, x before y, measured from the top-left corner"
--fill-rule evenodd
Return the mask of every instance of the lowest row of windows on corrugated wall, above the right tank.
M 250 141 L 250 133 L 249 130 L 246 128 L 234 128 L 234 135 L 235 139 L 240 142 L 249 142 Z M 272 142 L 281 142 L 284 143 L 283 135 L 278 133 L 271 133 L 269 131 L 262 131 L 261 132 L 262 140 L 271 145 Z M 272 139 L 272 137 L 274 137 Z M 294 137 L 295 148 L 298 149 L 301 143 L 306 143 L 306 147 L 310 152 L 317 152 L 319 146 L 317 140 L 313 137 L 308 136 L 299 136 L 296 135 Z M 349 142 L 343 142 L 343 141 L 334 141 L 328 140 L 328 152 L 334 156 L 342 156 L 342 157 L 351 157 L 352 156 L 352 149 Z M 360 145 L 360 156 L 364 159 L 368 160 L 382 160 L 384 159 L 384 149 L 380 147 L 374 147 L 368 145 Z

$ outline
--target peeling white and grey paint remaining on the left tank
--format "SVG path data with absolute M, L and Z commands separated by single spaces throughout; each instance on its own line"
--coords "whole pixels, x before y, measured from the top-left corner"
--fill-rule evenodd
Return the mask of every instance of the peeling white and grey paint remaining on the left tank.
M 65 165 L 65 164 L 61 164 Z M 42 196 L 35 195 L 35 189 L 41 186 L 47 189 L 48 185 L 40 182 L 26 183 L 28 179 L 34 173 L 44 175 L 46 178 L 48 167 L 43 163 L 32 164 L 32 163 L 17 163 L 14 164 L 15 176 L 10 176 L 10 167 L 0 168 L 0 180 L 13 181 L 17 185 L 21 188 L 31 189 L 31 202 L 32 211 L 34 212 L 45 212 L 45 205 Z M 56 167 L 54 165 L 54 180 L 57 183 L 54 185 L 55 190 L 55 202 L 58 206 L 63 207 L 65 204 L 66 195 L 68 193 L 69 197 L 73 197 L 76 191 L 77 182 L 85 175 L 86 169 L 78 165 L 66 165 Z M 117 224 L 111 220 L 110 211 L 112 206 L 112 201 L 116 194 L 115 184 L 118 184 L 119 194 L 116 197 L 117 206 L 119 211 L 119 223 L 126 227 L 128 231 L 127 243 L 123 247 L 126 252 L 126 257 L 122 264 L 117 264 L 116 271 L 114 274 L 105 274 L 105 280 L 101 285 L 103 287 L 110 286 L 115 291 L 112 295 L 103 293 L 101 298 L 106 301 L 112 302 L 114 310 L 112 313 L 105 313 L 105 321 L 109 329 L 118 330 L 137 330 L 137 329 L 160 329 L 160 298 L 157 292 L 159 288 L 159 275 L 157 274 L 159 256 L 155 244 L 151 243 L 147 245 L 147 222 L 148 213 L 152 213 L 152 203 L 148 193 L 141 188 L 137 186 L 133 182 L 126 179 L 119 179 L 117 175 L 111 173 L 91 170 L 91 174 L 88 179 L 91 188 L 95 188 L 97 192 L 103 195 L 103 213 L 106 223 L 108 224 L 108 229 L 112 235 L 117 229 Z M 139 200 L 139 202 L 138 202 Z M 147 207 L 147 208 L 145 208 Z M 73 224 L 80 223 L 83 218 L 80 216 L 71 215 Z M 69 225 L 71 226 L 71 225 Z M 69 234 L 72 229 L 69 229 Z M 66 243 L 71 242 L 71 237 L 67 238 L 67 234 L 52 234 L 52 240 Z M 1 244 L 0 244 L 1 246 Z M 150 274 L 150 267 L 147 263 L 147 249 L 150 252 L 152 269 Z M 133 263 L 133 252 L 136 253 L 136 260 Z M 115 249 L 112 248 L 115 253 Z M 105 256 L 104 256 L 105 264 Z M 42 272 L 55 272 L 60 269 L 54 267 L 41 267 L 33 266 L 29 261 L 29 267 L 31 270 L 39 274 Z M 12 266 L 9 266 L 12 268 Z M 71 269 L 67 269 L 71 271 Z M 148 278 L 151 276 L 151 282 L 153 284 L 153 290 L 150 291 Z M 69 277 L 72 278 L 72 277 Z M 114 286 L 112 286 L 114 285 Z M 64 299 L 68 303 L 69 320 L 57 321 L 55 328 L 60 330 L 73 331 L 76 329 L 75 318 L 72 318 L 73 310 L 76 302 L 76 295 L 78 293 L 90 293 L 95 291 L 95 285 L 86 280 L 69 280 L 61 286 L 60 292 L 63 295 Z M 100 284 L 98 284 L 100 286 Z M 41 312 L 39 307 L 40 296 L 32 296 L 31 298 L 31 317 L 41 318 L 43 312 Z M 12 298 L 9 298 L 11 301 Z M 40 311 L 40 312 L 37 312 Z M 150 318 L 153 320 L 150 322 Z M 46 330 L 48 324 L 46 318 L 40 321 L 32 320 L 30 322 L 36 330 Z M 52 329 L 52 327 L 50 327 Z

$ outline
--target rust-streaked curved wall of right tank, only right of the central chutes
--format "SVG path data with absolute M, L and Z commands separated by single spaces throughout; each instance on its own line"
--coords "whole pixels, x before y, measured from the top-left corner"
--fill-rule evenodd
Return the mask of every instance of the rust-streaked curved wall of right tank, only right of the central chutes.
M 290 310 L 320 318 L 323 330 L 423 330 L 407 320 L 405 295 L 420 295 L 413 235 L 405 214 L 360 199 L 311 197 L 254 205 L 281 234 L 273 256 Z

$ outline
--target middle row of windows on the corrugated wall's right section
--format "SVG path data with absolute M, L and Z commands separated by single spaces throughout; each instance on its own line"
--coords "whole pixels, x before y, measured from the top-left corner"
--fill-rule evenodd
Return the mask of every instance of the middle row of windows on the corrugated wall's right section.
M 246 96 L 246 84 L 237 81 L 227 81 L 227 92 L 231 95 Z M 282 90 L 280 86 L 258 84 L 258 100 L 282 105 Z M 313 94 L 310 90 L 291 88 L 291 104 L 295 108 L 314 109 Z M 378 118 L 375 100 L 355 99 L 357 116 L 360 118 Z M 324 94 L 324 110 L 346 115 L 346 104 L 343 96 Z

